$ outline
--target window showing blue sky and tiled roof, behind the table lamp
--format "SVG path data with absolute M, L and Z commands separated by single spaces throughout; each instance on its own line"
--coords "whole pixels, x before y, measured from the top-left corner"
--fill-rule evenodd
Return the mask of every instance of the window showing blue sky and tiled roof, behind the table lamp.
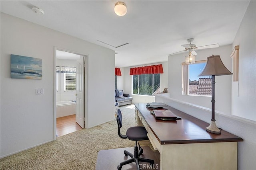
M 198 76 L 205 65 L 206 60 L 189 65 L 182 63 L 182 94 L 212 95 L 212 76 Z

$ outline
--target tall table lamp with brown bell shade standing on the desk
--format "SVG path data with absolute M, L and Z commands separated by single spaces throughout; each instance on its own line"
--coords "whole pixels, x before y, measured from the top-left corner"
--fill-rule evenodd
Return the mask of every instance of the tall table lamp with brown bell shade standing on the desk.
M 212 55 L 207 57 L 206 66 L 204 70 L 198 76 L 212 76 L 212 119 L 210 126 L 206 127 L 206 131 L 210 133 L 220 134 L 220 129 L 215 123 L 215 76 L 230 75 L 230 72 L 222 63 L 219 55 Z

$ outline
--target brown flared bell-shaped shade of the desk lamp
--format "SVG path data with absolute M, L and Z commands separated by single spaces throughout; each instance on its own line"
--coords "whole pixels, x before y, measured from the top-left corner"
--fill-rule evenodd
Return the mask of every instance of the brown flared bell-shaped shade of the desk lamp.
M 198 76 L 222 76 L 233 74 L 230 72 L 222 63 L 219 55 L 212 55 L 207 57 L 206 65 L 204 70 Z

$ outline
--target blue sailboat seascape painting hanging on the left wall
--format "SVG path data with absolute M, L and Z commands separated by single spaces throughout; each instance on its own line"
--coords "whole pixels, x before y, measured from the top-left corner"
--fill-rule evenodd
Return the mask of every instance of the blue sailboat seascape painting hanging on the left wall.
M 42 79 L 42 59 L 11 54 L 11 78 Z

